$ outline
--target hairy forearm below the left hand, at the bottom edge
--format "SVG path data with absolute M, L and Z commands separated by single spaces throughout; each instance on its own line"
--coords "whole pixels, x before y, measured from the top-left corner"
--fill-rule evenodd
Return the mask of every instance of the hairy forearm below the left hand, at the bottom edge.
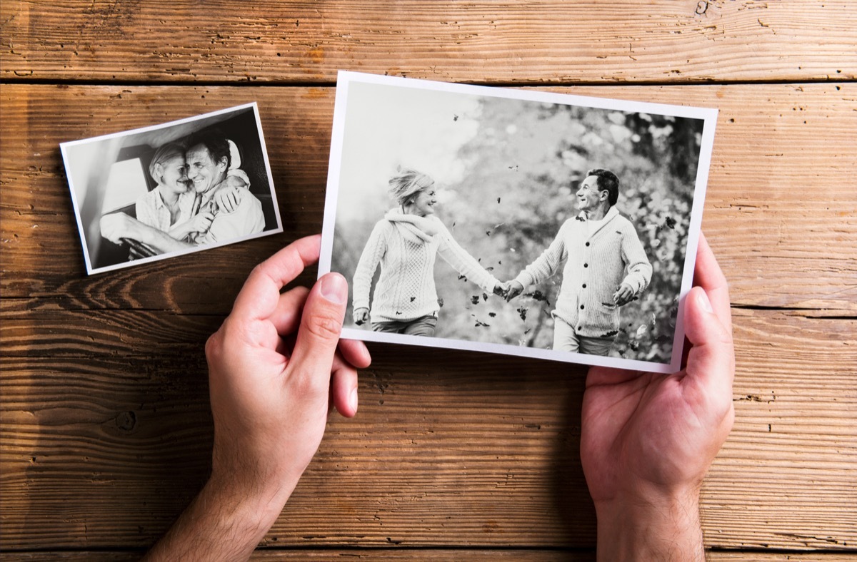
M 246 560 L 294 486 L 248 494 L 214 476 L 144 560 Z

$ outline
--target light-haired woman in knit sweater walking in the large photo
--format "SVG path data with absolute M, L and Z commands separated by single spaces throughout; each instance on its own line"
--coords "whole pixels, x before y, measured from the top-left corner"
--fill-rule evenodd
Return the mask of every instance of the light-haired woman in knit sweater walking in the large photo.
M 434 288 L 438 254 L 482 290 L 505 294 L 506 287 L 459 246 L 434 215 L 437 199 L 431 177 L 405 169 L 390 179 L 389 192 L 399 206 L 375 223 L 354 273 L 357 325 L 371 322 L 375 332 L 434 335 L 440 311 Z M 369 289 L 379 264 L 370 310 Z

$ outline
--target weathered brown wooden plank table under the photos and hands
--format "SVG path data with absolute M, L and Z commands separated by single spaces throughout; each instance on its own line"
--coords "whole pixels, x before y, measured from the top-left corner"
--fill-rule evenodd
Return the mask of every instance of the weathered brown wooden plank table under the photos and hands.
M 321 229 L 339 68 L 720 109 L 736 421 L 711 559 L 857 553 L 857 12 L 824 0 L 0 4 L 9 559 L 135 559 L 204 482 L 202 345 Z M 57 144 L 257 101 L 285 233 L 87 277 Z M 313 275 L 303 275 L 303 284 Z M 585 370 L 373 345 L 258 559 L 592 559 Z

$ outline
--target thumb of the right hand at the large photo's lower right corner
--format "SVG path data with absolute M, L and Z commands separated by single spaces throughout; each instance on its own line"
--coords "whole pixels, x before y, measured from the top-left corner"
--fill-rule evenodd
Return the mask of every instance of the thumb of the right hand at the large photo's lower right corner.
M 687 375 L 710 390 L 731 396 L 735 358 L 732 331 L 717 316 L 702 287 L 693 287 L 685 303 L 685 331 L 691 342 Z

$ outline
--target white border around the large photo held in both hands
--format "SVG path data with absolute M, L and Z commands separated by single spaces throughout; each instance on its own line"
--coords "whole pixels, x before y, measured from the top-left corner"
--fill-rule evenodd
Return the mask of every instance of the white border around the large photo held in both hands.
M 672 355 L 668 364 L 638 359 L 610 358 L 585 353 L 559 352 L 526 346 L 512 346 L 500 343 L 477 342 L 469 340 L 451 340 L 437 337 L 421 337 L 406 334 L 387 334 L 369 330 L 343 328 L 342 337 L 350 340 L 375 341 L 382 343 L 407 344 L 413 346 L 440 347 L 448 349 L 470 350 L 477 352 L 499 353 L 518 357 L 548 359 L 564 363 L 588 364 L 614 367 L 626 370 L 643 370 L 656 373 L 673 373 L 680 370 L 680 362 L 685 340 L 684 309 L 686 295 L 692 288 L 693 268 L 696 263 L 697 246 L 705 201 L 705 190 L 714 146 L 714 133 L 717 109 L 685 105 L 654 104 L 614 98 L 592 98 L 573 94 L 542 92 L 536 90 L 512 90 L 491 86 L 470 86 L 417 80 L 397 76 L 364 74 L 340 70 L 337 76 L 335 106 L 333 110 L 333 132 L 331 136 L 330 163 L 327 171 L 327 192 L 325 197 L 324 223 L 321 232 L 321 257 L 318 276 L 331 271 L 333 258 L 333 240 L 336 226 L 337 201 L 339 197 L 339 177 L 345 139 L 345 107 L 351 83 L 366 83 L 405 88 L 434 90 L 461 94 L 479 95 L 494 98 L 512 98 L 524 101 L 548 104 L 583 106 L 591 109 L 614 109 L 626 112 L 649 113 L 686 117 L 703 121 L 701 143 L 698 153 L 697 175 L 692 200 L 691 218 L 685 248 L 685 263 L 681 277 L 678 299 L 678 312 L 675 321 Z

